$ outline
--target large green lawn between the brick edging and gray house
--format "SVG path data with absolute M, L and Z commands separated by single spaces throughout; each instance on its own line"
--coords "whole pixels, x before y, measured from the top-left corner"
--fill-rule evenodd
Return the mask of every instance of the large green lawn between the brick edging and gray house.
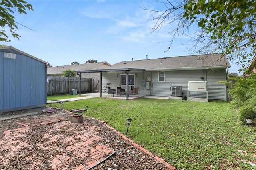
M 89 117 L 123 134 L 130 117 L 128 137 L 178 169 L 255 169 L 255 127 L 241 124 L 228 102 L 92 98 L 63 108 L 85 105 Z

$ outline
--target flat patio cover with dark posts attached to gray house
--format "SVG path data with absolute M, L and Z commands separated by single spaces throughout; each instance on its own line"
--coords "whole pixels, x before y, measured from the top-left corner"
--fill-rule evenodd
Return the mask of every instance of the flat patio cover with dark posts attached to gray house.
M 129 89 L 129 72 L 130 71 L 145 71 L 145 69 L 137 69 L 137 68 L 119 68 L 119 69 L 98 69 L 98 70 L 79 70 L 74 71 L 77 75 L 79 75 L 79 94 L 81 94 L 81 73 L 100 73 L 100 97 L 102 97 L 102 73 L 107 72 L 116 72 L 116 71 L 122 71 L 126 73 L 126 89 Z M 126 100 L 129 99 L 129 93 L 126 93 Z

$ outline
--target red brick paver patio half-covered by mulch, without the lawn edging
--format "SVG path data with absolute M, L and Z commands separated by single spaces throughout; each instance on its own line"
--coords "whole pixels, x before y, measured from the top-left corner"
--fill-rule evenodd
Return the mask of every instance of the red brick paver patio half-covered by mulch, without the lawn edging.
M 0 151 L 4 153 L 4 155 L 0 155 L 0 161 L 3 164 L 8 164 L 12 157 L 22 154 L 23 149 L 38 148 L 39 152 L 42 150 L 47 153 L 46 156 L 51 155 L 50 158 L 45 158 L 50 161 L 50 169 L 65 170 L 75 164 L 75 170 L 83 170 L 96 166 L 114 154 L 115 151 L 112 148 L 99 142 L 102 138 L 97 136 L 97 127 L 82 123 L 78 129 L 69 128 L 72 123 L 62 119 L 64 118 L 61 116 L 52 115 L 41 119 L 17 122 L 22 127 L 4 131 L 4 137 L 0 139 Z M 31 143 L 24 140 L 33 132 L 33 126 L 38 125 L 42 128 L 48 125 L 52 125 L 52 127 L 51 130 L 42 130 L 41 142 Z M 72 135 L 64 135 L 67 132 Z M 40 169 L 44 160 L 37 158 L 34 152 L 38 151 L 31 150 L 31 153 L 26 155 L 26 160 L 31 162 L 33 169 Z M 76 164 L 76 162 L 84 163 Z

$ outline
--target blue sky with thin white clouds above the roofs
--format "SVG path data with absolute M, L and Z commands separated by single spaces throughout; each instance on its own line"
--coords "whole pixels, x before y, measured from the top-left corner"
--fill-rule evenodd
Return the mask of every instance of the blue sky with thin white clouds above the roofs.
M 120 61 L 194 55 L 189 46 L 182 45 L 188 37 L 175 40 L 168 49 L 172 37 L 166 24 L 158 32 L 152 32 L 155 24 L 153 12 L 144 10 L 164 9 L 155 0 L 32 0 L 34 11 L 14 14 L 19 26 L 20 40 L 11 38 L 11 45 L 50 65 L 82 64 L 89 59 L 115 64 Z M 7 29 L 6 29 L 7 30 Z M 34 31 L 33 31 L 34 30 Z M 8 32 L 7 32 L 8 33 Z M 166 42 L 166 43 L 163 43 Z M 230 63 L 232 64 L 232 63 Z M 229 72 L 238 73 L 232 64 Z

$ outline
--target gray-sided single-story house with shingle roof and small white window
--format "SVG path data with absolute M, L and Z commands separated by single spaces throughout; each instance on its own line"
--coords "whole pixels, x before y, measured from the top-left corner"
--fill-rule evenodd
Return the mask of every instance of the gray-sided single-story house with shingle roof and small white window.
M 111 88 L 121 86 L 124 89 L 128 87 L 129 90 L 139 87 L 139 95 L 150 96 L 168 97 L 171 95 L 171 85 L 175 85 L 182 86 L 182 95 L 187 97 L 188 81 L 207 81 L 208 99 L 226 100 L 226 85 L 217 81 L 227 79 L 229 67 L 230 63 L 225 56 L 211 54 L 132 59 L 111 65 L 108 69 L 90 71 L 101 73 L 102 86 L 110 83 Z M 150 83 L 147 83 L 148 77 L 151 79 Z M 205 98 L 206 93 L 193 91 L 190 97 Z

